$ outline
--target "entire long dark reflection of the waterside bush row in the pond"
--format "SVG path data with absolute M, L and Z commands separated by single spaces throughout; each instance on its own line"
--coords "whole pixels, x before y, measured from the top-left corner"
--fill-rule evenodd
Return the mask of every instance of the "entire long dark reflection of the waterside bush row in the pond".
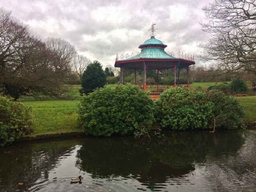
M 195 163 L 204 163 L 207 155 L 217 155 L 215 151 L 219 155 L 236 152 L 243 142 L 236 131 L 171 132 L 136 141 L 131 137 L 90 138 L 77 152 L 76 166 L 93 178 L 132 175 L 140 181 L 165 182 L 166 177 L 193 171 Z

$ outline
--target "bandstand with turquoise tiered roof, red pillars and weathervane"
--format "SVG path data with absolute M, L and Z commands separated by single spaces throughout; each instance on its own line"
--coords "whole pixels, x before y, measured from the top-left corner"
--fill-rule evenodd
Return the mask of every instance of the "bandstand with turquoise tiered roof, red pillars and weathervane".
M 115 67 L 120 67 L 120 83 L 123 84 L 123 70 L 130 69 L 135 71 L 135 84 L 136 84 L 136 70 L 144 70 L 144 86 L 143 89 L 147 90 L 147 70 L 156 70 L 157 73 L 157 93 L 151 93 L 153 99 L 157 99 L 160 95 L 158 89 L 159 71 L 166 69 L 173 69 L 174 71 L 174 87 L 176 84 L 177 71 L 186 69 L 186 87 L 189 87 L 189 66 L 195 64 L 194 56 L 179 54 L 179 58 L 169 55 L 165 52 L 167 45 L 154 37 L 154 25 L 151 25 L 151 38 L 146 40 L 139 46 L 141 52 L 138 55 L 131 55 L 129 57 L 121 56 L 116 57 Z M 182 58 L 180 58 L 182 57 Z M 179 76 L 178 76 L 179 78 Z

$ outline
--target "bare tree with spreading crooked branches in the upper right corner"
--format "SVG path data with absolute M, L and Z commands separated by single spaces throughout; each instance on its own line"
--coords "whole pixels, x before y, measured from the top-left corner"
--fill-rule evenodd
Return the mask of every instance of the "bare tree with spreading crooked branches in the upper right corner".
M 250 70 L 256 74 L 256 1 L 215 0 L 203 8 L 208 23 L 201 23 L 211 35 L 201 58 L 215 61 L 218 70 L 231 73 Z

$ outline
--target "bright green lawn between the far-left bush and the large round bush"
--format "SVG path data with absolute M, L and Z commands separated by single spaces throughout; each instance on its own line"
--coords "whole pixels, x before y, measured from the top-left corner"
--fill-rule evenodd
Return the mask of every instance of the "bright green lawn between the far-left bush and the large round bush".
M 24 102 L 32 106 L 34 123 L 31 137 L 44 134 L 81 132 L 76 113 L 78 100 Z

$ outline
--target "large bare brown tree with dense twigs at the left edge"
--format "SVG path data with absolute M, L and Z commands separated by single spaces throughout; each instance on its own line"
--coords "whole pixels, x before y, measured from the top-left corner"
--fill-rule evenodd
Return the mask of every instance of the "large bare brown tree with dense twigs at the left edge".
M 67 61 L 31 35 L 11 12 L 0 9 L 0 92 L 15 99 L 58 96 L 70 73 Z

